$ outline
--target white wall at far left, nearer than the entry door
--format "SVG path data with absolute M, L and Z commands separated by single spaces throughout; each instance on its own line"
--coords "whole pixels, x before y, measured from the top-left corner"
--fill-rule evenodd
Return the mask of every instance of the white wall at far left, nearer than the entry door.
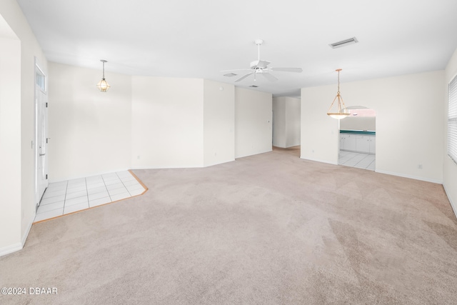
M 35 57 L 45 70 L 47 61 L 16 1 L 0 1 L 0 15 L 2 17 L 0 19 L 3 19 L 0 22 L 3 27 L 1 29 L 3 38 L 5 33 L 11 33 L 12 30 L 20 40 L 20 43 L 19 41 L 11 42 L 11 44 L 8 44 L 9 46 L 6 46 L 6 49 L 3 46 L 1 47 L 2 54 L 9 54 L 13 50 L 15 52 L 15 55 L 9 54 L 2 59 L 2 61 L 11 61 L 11 63 L 5 62 L 5 64 L 1 65 L 1 75 L 8 74 L 8 81 L 2 81 L 0 85 L 2 97 L 7 96 L 7 103 L 14 103 L 14 106 L 11 106 L 12 108 L 9 108 L 10 106 L 6 108 L 2 106 L 0 109 L 1 117 L 6 116 L 9 118 L 5 119 L 5 122 L 8 122 L 9 135 L 6 138 L 1 136 L 2 138 L 0 139 L 2 146 L 4 144 L 3 141 L 8 143 L 9 151 L 6 153 L 6 157 L 2 156 L 0 158 L 0 168 L 2 172 L 7 172 L 9 179 L 11 179 L 9 184 L 6 184 L 11 187 L 5 193 L 3 189 L 1 190 L 2 195 L 9 194 L 11 201 L 6 201 L 6 203 L 0 205 L 0 214 L 5 213 L 13 216 L 12 219 L 7 221 L 8 225 L 0 225 L 0 255 L 2 255 L 21 249 L 35 217 L 35 155 L 34 148 L 31 146 L 35 132 Z M 9 29 L 4 31 L 5 27 Z M 20 49 L 18 49 L 19 46 Z M 18 56 L 20 56 L 19 66 Z M 20 95 L 17 91 L 19 84 Z M 10 88 L 6 88 L 5 85 Z M 3 126 L 4 123 L 1 124 Z M 11 156 L 11 158 L 8 158 L 8 156 Z M 20 164 L 18 163 L 18 158 L 20 158 Z M 11 171 L 7 169 L 11 169 Z M 18 209 L 20 209 L 19 215 L 17 214 Z M 3 226 L 7 226 L 7 228 Z M 19 234 L 17 234 L 18 231 Z

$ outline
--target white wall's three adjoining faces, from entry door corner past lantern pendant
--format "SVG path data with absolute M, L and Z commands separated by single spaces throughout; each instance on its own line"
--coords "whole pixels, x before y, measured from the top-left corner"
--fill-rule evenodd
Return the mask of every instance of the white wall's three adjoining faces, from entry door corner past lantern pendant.
M 99 70 L 49 70 L 50 181 L 234 159 L 233 85 L 107 71 L 100 92 Z

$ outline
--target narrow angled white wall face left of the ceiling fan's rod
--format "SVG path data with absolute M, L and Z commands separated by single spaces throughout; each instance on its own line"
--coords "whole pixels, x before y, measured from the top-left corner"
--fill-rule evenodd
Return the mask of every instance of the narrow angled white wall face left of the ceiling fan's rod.
M 235 159 L 235 86 L 204 80 L 204 166 Z

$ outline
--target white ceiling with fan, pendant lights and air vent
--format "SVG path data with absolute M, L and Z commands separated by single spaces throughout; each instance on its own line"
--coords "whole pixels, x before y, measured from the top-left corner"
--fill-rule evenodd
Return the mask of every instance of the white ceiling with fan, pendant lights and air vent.
M 227 69 L 257 59 L 278 81 L 248 77 L 274 96 L 307 86 L 436 71 L 457 48 L 456 0 L 17 0 L 49 61 L 109 73 L 233 84 Z M 328 44 L 356 36 L 358 44 Z

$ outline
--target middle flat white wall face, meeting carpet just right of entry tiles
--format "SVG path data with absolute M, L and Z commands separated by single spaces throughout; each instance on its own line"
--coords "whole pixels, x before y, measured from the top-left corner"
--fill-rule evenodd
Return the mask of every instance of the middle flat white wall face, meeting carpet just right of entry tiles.
M 131 80 L 132 168 L 203 166 L 203 79 Z

